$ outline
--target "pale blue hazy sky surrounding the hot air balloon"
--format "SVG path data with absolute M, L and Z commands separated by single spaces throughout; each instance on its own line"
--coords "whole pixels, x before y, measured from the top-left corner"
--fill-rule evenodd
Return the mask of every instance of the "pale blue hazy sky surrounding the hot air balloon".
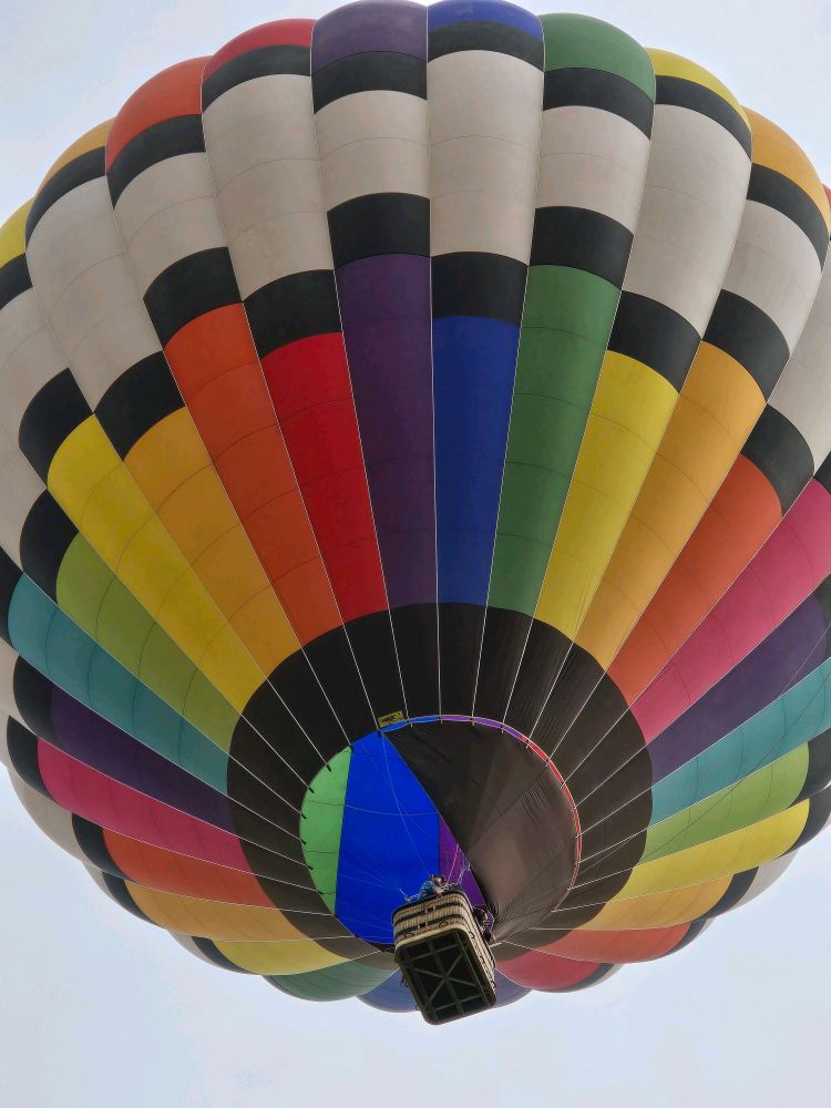
M 0 213 L 152 73 L 316 2 L 2 0 Z M 534 6 L 551 10 L 550 6 Z M 566 6 L 568 7 L 568 6 Z M 831 3 L 597 0 L 572 9 L 686 53 L 831 181 Z M 822 1102 L 831 834 L 669 958 L 442 1029 L 223 973 L 102 895 L 0 770 L 0 1106 L 687 1108 Z

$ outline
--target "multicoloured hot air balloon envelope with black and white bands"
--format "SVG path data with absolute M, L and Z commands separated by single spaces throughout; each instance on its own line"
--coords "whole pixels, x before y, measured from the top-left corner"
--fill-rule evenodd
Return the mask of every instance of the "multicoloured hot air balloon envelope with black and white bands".
M 208 962 L 393 1012 L 430 873 L 503 1004 L 755 896 L 831 812 L 829 223 L 585 17 L 360 0 L 147 81 L 0 230 L 35 822 Z

